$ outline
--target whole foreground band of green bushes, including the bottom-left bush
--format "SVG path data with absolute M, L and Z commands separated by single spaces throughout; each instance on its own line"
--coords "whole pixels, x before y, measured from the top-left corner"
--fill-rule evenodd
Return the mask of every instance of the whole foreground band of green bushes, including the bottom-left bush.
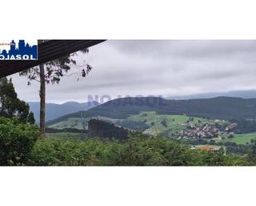
M 95 121 L 95 120 L 94 120 Z M 102 123 L 102 121 L 100 121 Z M 108 123 L 108 122 L 106 122 Z M 107 126 L 107 124 L 106 124 Z M 108 125 L 109 126 L 109 125 Z M 38 128 L 17 117 L 0 118 L 0 165 L 255 165 L 256 146 L 247 156 L 200 151 L 181 141 L 133 132 L 123 141 L 106 138 L 39 139 Z M 77 133 L 78 136 L 83 135 Z M 238 153 L 238 152 L 237 152 Z M 244 155 L 244 154 L 243 154 Z

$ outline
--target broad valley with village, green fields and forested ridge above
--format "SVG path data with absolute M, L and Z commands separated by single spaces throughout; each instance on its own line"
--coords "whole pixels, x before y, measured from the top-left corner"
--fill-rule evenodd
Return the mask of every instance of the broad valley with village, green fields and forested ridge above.
M 234 104 L 234 99 L 239 100 L 239 103 Z M 161 105 L 157 101 L 161 101 Z M 138 102 L 142 104 L 138 105 Z M 148 105 L 146 102 L 156 104 Z M 152 137 L 184 141 L 191 146 L 196 146 L 195 148 L 206 148 L 205 150 L 218 148 L 219 150 L 221 147 L 225 149 L 227 147 L 228 151 L 235 149 L 244 152 L 248 149 L 246 146 L 250 146 L 256 139 L 255 121 L 244 118 L 245 113 L 249 117 L 255 115 L 254 107 L 256 107 L 256 99 L 120 98 L 88 111 L 70 113 L 47 122 L 48 128 L 60 130 L 60 132 L 47 134 L 47 137 L 86 139 L 88 122 L 90 119 L 99 119 L 113 123 L 116 127 L 128 129 L 130 132 L 142 132 Z M 219 108 L 218 111 L 217 108 Z M 234 108 L 245 113 L 233 113 Z M 243 130 L 239 129 L 240 127 Z M 67 129 L 80 132 L 63 132 Z

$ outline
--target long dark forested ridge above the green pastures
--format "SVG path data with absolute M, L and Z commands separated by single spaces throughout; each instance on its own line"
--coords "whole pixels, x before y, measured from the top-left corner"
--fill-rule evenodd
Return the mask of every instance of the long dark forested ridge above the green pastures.
M 200 98 L 168 100 L 164 98 L 117 98 L 88 111 L 70 113 L 46 122 L 48 126 L 70 117 L 111 117 L 125 119 L 130 114 L 154 111 L 160 114 L 186 114 L 213 119 L 256 119 L 256 98 Z

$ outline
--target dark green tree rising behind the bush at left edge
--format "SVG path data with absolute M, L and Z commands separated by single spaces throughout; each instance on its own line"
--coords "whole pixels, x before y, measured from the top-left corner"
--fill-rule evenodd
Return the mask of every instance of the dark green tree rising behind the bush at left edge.
M 29 112 L 29 105 L 17 98 L 12 79 L 0 79 L 0 116 L 17 116 L 21 122 L 35 123 L 33 113 Z

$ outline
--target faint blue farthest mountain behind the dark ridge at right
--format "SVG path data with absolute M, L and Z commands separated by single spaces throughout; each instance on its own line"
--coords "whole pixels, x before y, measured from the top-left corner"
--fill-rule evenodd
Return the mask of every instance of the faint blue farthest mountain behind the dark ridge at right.
M 237 90 L 226 93 L 199 93 L 184 96 L 169 96 L 167 99 L 195 99 L 195 98 L 216 98 L 216 97 L 232 97 L 232 98 L 256 98 L 256 90 Z

